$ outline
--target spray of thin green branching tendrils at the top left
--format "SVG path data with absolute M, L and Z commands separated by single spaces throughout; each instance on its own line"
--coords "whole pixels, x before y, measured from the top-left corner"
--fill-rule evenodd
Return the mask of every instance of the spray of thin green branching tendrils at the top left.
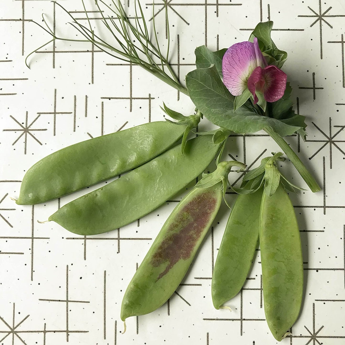
M 63 11 L 65 11 L 68 14 L 68 16 L 72 20 L 71 22 L 69 22 L 69 24 L 71 24 L 71 26 L 75 28 L 85 39 L 70 39 L 67 37 L 57 36 L 57 34 L 54 32 L 55 30 L 52 30 L 50 28 L 44 15 L 42 14 L 42 19 L 45 24 L 45 27 L 35 21 L 32 22 L 37 24 L 41 29 L 45 30 L 50 36 L 52 36 L 52 39 L 44 45 L 32 51 L 26 57 L 25 63 L 28 68 L 30 68 L 28 64 L 29 56 L 31 56 L 33 53 L 37 52 L 38 50 L 47 46 L 55 40 L 68 42 L 89 42 L 92 43 L 93 46 L 97 47 L 98 49 L 112 57 L 144 68 L 160 80 L 166 82 L 168 85 L 174 87 L 180 92 L 183 92 L 185 95 L 188 95 L 187 89 L 181 84 L 178 77 L 176 76 L 175 71 L 172 69 L 169 63 L 170 31 L 167 0 L 164 0 L 165 18 L 167 22 L 167 51 L 165 56 L 162 54 L 159 46 L 155 23 L 154 3 L 152 6 L 152 27 L 155 31 L 155 39 L 154 42 L 152 42 L 149 37 L 147 22 L 144 17 L 144 12 L 142 10 L 139 0 L 135 0 L 134 2 L 134 24 L 130 22 L 130 18 L 127 16 L 126 11 L 122 6 L 120 0 L 118 0 L 117 3 L 114 0 L 111 0 L 115 9 L 111 8 L 103 0 L 95 0 L 97 11 L 101 15 L 101 22 L 108 29 L 108 31 L 115 40 L 115 42 L 112 43 L 101 38 L 100 34 L 97 34 L 95 30 L 92 28 L 90 18 L 88 16 L 85 3 L 83 0 L 82 5 L 88 22 L 88 27 L 79 23 L 77 19 L 73 17 L 72 14 L 68 12 L 61 4 L 57 3 L 56 1 L 52 2 L 58 5 Z M 100 4 L 102 4 L 102 6 L 104 6 L 106 9 L 110 10 L 112 16 L 106 16 L 105 14 L 103 14 Z M 118 23 L 115 20 L 118 20 Z M 156 61 L 157 59 L 159 59 L 159 62 Z

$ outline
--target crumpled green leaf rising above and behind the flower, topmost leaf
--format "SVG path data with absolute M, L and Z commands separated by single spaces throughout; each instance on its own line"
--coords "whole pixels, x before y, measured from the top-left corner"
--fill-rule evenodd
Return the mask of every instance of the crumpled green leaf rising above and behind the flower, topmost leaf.
M 258 23 L 250 34 L 249 41 L 253 42 L 254 37 L 256 37 L 258 39 L 259 48 L 263 52 L 267 63 L 282 68 L 287 59 L 287 52 L 278 49 L 274 44 L 271 38 L 272 27 L 273 21 Z

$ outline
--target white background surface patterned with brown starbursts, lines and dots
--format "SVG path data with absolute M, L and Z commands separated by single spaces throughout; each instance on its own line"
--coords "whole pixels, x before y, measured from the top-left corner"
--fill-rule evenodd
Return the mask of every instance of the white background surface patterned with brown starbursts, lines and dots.
M 58 2 L 86 23 L 81 0 Z M 165 46 L 164 2 L 156 0 L 154 8 L 150 0 L 141 4 L 148 19 L 155 16 Z M 101 29 L 93 1 L 85 0 L 85 6 L 92 26 Z M 133 0 L 124 6 L 134 16 Z M 282 343 L 345 344 L 345 1 L 168 0 L 167 6 L 170 60 L 181 80 L 194 68 L 195 47 L 229 47 L 247 40 L 257 22 L 274 21 L 273 39 L 288 52 L 284 70 L 295 108 L 308 124 L 305 142 L 296 135 L 287 140 L 322 186 L 317 194 L 292 196 L 305 295 L 292 335 Z M 135 223 L 90 237 L 37 221 L 104 183 L 36 206 L 11 200 L 25 171 L 53 151 L 161 120 L 163 101 L 185 115 L 194 110 L 185 95 L 91 44 L 56 41 L 31 55 L 28 69 L 25 57 L 49 40 L 30 22 L 42 23 L 42 13 L 57 34 L 76 37 L 66 13 L 49 0 L 0 4 L 0 344 L 276 344 L 265 323 L 259 249 L 245 286 L 229 303 L 233 312 L 213 308 L 210 279 L 229 214 L 225 205 L 175 294 L 156 312 L 128 319 L 122 335 L 124 291 L 183 194 Z M 208 128 L 207 120 L 199 126 Z M 258 132 L 231 135 L 226 154 L 250 169 L 276 150 Z M 292 164 L 282 166 L 304 186 Z M 235 184 L 238 175 L 229 178 Z

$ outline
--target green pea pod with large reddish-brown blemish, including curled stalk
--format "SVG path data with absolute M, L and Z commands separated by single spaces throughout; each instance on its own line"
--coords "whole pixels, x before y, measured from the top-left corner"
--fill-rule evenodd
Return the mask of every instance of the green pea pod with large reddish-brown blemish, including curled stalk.
M 122 321 L 155 311 L 174 293 L 218 213 L 231 166 L 245 167 L 235 161 L 220 163 L 224 178 L 215 172 L 206 175 L 172 211 L 127 287 Z

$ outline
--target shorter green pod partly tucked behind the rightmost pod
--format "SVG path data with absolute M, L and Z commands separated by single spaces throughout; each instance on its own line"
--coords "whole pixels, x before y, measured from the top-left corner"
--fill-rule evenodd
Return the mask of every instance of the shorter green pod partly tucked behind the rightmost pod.
M 220 243 L 211 284 L 213 305 L 221 308 L 235 297 L 247 278 L 259 239 L 263 188 L 239 195 Z

